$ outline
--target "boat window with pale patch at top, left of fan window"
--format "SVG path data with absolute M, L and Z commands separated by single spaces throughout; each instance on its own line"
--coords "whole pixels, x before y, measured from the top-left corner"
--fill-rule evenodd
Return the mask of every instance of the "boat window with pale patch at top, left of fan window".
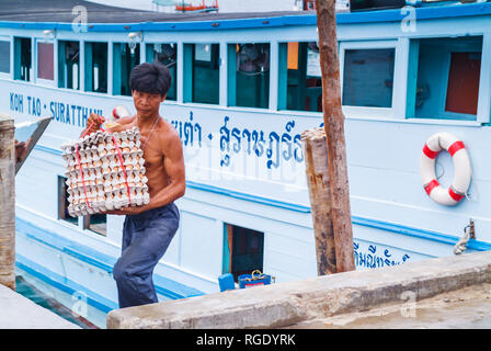
M 219 44 L 184 45 L 184 102 L 218 104 Z

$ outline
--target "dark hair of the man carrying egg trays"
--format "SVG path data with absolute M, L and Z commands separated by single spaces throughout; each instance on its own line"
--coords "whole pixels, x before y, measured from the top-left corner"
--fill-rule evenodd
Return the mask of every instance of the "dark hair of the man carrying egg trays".
M 169 68 L 159 63 L 145 63 L 135 66 L 129 76 L 129 88 L 151 94 L 165 95 L 171 87 Z

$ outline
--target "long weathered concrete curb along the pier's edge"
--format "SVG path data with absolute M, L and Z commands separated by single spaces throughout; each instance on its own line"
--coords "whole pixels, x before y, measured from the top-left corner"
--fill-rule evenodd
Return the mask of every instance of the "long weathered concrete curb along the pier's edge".
M 107 328 L 283 328 L 491 283 L 491 251 L 112 310 Z

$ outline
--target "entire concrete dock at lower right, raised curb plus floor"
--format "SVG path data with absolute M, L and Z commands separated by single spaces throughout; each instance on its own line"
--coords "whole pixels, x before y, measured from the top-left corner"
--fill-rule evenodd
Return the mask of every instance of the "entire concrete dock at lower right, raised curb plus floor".
M 379 316 L 379 328 L 452 324 L 452 316 L 487 328 L 489 284 L 491 251 L 473 252 L 114 309 L 107 314 L 107 328 L 326 328 L 329 322 L 363 328 L 377 317 L 367 312 L 388 305 L 396 309 Z M 436 298 L 433 305 L 425 305 L 429 298 Z M 453 309 L 445 314 L 442 305 Z M 426 320 L 419 321 L 418 315 Z

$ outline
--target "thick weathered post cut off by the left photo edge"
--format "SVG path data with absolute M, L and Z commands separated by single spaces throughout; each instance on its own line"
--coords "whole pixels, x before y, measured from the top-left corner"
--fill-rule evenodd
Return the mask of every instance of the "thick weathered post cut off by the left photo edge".
M 0 284 L 15 290 L 15 144 L 13 118 L 0 115 Z

